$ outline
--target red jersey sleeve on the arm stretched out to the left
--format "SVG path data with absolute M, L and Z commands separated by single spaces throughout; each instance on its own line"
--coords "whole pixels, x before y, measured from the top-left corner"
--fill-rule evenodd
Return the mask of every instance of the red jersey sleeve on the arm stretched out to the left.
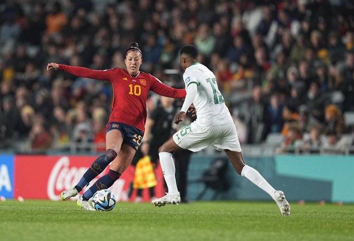
M 84 67 L 74 67 L 59 64 L 59 69 L 82 78 L 99 79 L 111 81 L 115 69 L 91 70 Z

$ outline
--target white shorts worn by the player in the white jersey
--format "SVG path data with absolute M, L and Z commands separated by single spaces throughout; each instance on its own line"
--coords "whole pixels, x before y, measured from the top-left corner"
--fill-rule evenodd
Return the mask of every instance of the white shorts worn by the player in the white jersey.
M 200 126 L 192 122 L 176 132 L 173 135 L 173 140 L 179 147 L 194 152 L 210 145 L 218 150 L 241 151 L 233 122 L 217 126 Z

